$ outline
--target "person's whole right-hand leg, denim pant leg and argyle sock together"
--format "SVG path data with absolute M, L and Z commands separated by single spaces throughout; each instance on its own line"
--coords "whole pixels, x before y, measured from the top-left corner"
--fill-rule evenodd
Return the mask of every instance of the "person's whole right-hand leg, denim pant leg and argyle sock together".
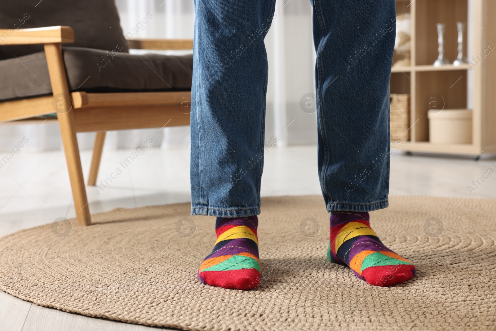
M 318 172 L 330 218 L 329 260 L 387 286 L 415 267 L 387 249 L 369 211 L 388 205 L 389 77 L 394 0 L 313 0 Z

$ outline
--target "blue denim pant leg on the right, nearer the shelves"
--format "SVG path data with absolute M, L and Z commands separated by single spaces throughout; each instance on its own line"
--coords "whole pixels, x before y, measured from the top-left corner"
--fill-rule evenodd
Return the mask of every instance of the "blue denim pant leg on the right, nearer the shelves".
M 318 173 L 327 211 L 388 205 L 394 0 L 313 0 Z

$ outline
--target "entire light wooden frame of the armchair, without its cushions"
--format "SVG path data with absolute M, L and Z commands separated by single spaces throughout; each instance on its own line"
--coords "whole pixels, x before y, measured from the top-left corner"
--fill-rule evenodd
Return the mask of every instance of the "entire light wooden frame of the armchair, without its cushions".
M 1 45 L 44 45 L 53 92 L 51 96 L 0 102 L 0 123 L 40 122 L 44 120 L 37 116 L 57 112 L 77 222 L 90 225 L 76 132 L 97 132 L 88 178 L 88 185 L 95 185 L 107 131 L 189 125 L 189 114 L 181 111 L 185 106 L 181 103 L 182 96 L 190 96 L 190 92 L 70 93 L 61 47 L 74 41 L 70 27 L 0 29 L 0 36 Z M 183 39 L 129 40 L 129 47 L 135 49 L 187 50 L 192 46 L 192 40 Z

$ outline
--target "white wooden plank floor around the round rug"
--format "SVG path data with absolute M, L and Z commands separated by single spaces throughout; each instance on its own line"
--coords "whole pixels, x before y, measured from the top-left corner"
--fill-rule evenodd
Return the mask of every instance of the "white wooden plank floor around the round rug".
M 268 151 L 262 176 L 262 196 L 320 195 L 316 146 L 273 147 Z M 104 150 L 99 178 L 105 179 L 110 175 L 131 152 Z M 6 153 L 0 152 L 0 157 L 3 154 Z M 91 152 L 82 152 L 81 158 L 87 175 Z M 407 156 L 397 152 L 391 158 L 390 195 L 459 197 L 460 200 L 496 198 L 496 174 L 481 182 L 472 196 L 467 189 L 488 168 L 496 171 L 495 159 L 476 162 L 472 159 Z M 62 151 L 21 151 L 0 169 L 0 187 L 0 236 L 50 223 L 58 217 L 75 215 Z M 116 207 L 189 201 L 189 149 L 147 149 L 102 192 L 97 192 L 94 187 L 87 190 L 92 213 Z M 143 331 L 157 328 L 39 307 L 0 291 L 0 330 Z

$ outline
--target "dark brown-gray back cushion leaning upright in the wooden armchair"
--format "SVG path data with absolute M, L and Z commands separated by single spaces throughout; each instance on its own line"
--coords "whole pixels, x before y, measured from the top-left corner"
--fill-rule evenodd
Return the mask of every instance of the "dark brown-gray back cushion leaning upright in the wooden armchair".
M 121 45 L 122 52 L 129 50 L 114 0 L 13 0 L 4 2 L 0 8 L 1 29 L 67 25 L 74 29 L 74 43 L 65 44 L 66 46 L 112 51 L 117 45 Z M 40 51 L 43 51 L 43 45 L 0 46 L 0 59 Z

